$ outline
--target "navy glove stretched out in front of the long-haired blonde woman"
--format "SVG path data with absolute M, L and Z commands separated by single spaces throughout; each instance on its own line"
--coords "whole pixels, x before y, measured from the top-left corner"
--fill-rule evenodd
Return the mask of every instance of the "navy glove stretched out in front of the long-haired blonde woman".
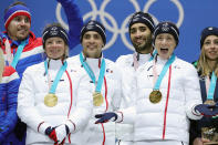
M 195 111 L 199 112 L 204 116 L 215 116 L 216 113 L 211 111 L 214 105 L 208 105 L 208 104 L 199 104 L 195 106 Z

